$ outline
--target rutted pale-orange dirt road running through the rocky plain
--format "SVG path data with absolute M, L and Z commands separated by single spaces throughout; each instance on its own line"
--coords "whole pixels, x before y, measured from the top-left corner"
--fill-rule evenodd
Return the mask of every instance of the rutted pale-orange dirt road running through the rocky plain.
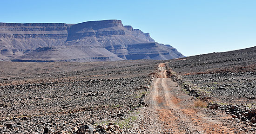
M 229 127 L 224 120 L 230 118 L 221 113 L 216 116 L 205 114 L 194 108 L 191 96 L 179 89 L 168 78 L 165 64 L 159 64 L 159 77 L 155 79 L 152 91 L 152 108 L 162 122 L 162 134 L 234 134 L 235 128 Z

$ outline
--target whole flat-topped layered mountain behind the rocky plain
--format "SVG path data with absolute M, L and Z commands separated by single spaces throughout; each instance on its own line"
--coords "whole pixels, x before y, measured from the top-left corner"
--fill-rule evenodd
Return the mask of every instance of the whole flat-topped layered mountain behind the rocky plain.
M 114 61 L 184 57 L 170 45 L 121 20 L 65 23 L 0 23 L 0 60 Z

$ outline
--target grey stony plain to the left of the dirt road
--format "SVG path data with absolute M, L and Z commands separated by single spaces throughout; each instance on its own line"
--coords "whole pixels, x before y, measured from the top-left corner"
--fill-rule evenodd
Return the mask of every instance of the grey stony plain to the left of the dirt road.
M 79 134 L 84 125 L 135 132 L 130 124 L 147 106 L 143 98 L 158 64 L 1 62 L 0 134 Z

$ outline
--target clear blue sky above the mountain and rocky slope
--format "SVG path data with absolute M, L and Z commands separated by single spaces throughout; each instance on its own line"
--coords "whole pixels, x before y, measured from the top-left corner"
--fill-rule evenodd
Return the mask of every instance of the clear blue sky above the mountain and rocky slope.
M 256 0 L 0 0 L 0 22 L 121 19 L 185 56 L 256 46 Z

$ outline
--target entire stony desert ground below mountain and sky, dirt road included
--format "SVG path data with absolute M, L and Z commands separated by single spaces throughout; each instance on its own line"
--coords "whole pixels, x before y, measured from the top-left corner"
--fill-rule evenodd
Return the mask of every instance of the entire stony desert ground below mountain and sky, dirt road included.
M 254 134 L 255 60 L 256 47 L 167 61 L 1 62 L 0 133 Z

